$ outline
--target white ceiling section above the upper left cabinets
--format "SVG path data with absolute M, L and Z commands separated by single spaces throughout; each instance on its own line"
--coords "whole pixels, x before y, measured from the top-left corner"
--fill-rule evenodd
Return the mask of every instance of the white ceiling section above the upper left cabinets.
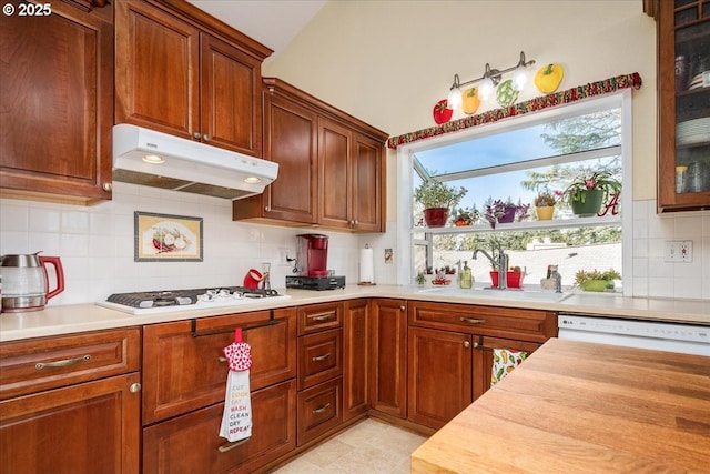
M 272 58 L 282 52 L 327 2 L 327 0 L 189 1 L 274 50 Z

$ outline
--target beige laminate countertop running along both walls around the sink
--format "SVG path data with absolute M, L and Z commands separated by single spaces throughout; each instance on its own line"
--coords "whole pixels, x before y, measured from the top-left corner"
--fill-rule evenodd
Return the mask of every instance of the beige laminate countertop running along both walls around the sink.
M 419 290 L 422 290 L 422 286 L 404 285 L 348 285 L 343 290 L 328 291 L 285 290 L 284 293 L 291 296 L 288 300 L 263 300 L 263 302 L 260 301 L 248 305 L 222 306 L 214 310 L 176 311 L 152 315 L 132 315 L 121 311 L 100 307 L 94 304 L 61 306 L 52 306 L 50 304 L 42 311 L 0 314 L 0 342 L 358 297 L 394 297 L 446 303 L 527 307 L 710 325 L 709 300 L 660 300 L 623 297 L 608 294 L 574 294 L 559 303 L 538 303 L 494 297 L 477 299 L 470 296 L 423 294 L 418 292 Z

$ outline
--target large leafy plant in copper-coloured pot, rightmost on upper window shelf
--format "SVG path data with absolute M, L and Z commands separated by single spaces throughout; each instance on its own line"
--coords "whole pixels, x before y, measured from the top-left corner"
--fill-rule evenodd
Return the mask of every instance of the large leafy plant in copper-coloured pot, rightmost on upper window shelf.
M 562 192 L 562 200 L 572 208 L 572 213 L 581 216 L 596 215 L 609 194 L 619 192 L 621 183 L 608 171 L 595 171 L 589 177 L 577 178 Z

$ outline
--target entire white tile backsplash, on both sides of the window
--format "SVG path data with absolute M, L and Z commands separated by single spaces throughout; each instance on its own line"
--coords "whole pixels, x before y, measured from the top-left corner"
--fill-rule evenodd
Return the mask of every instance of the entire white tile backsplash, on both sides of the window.
M 239 202 L 237 202 L 239 205 Z M 134 211 L 203 219 L 203 262 L 134 262 Z M 65 290 L 50 304 L 92 303 L 111 293 L 240 285 L 251 268 L 272 264 L 272 285 L 283 288 L 296 235 L 329 235 L 328 268 L 358 281 L 359 249 L 375 251 L 375 281 L 396 283 L 395 222 L 385 234 L 353 235 L 317 228 L 284 228 L 232 221 L 227 200 L 116 182 L 113 200 L 93 206 L 0 200 L 0 254 L 33 253 L 62 259 Z M 633 202 L 635 296 L 710 299 L 710 211 L 656 214 L 656 201 Z M 663 261 L 668 240 L 692 240 L 691 263 Z M 384 263 L 385 249 L 395 262 Z M 625 276 L 629 273 L 625 271 Z

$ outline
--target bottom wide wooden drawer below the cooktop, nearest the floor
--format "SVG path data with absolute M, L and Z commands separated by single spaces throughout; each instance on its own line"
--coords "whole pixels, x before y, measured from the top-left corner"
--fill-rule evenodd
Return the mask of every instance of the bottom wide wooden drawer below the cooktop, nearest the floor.
M 252 393 L 252 436 L 220 437 L 224 403 L 143 430 L 144 473 L 251 473 L 296 446 L 296 383 Z

